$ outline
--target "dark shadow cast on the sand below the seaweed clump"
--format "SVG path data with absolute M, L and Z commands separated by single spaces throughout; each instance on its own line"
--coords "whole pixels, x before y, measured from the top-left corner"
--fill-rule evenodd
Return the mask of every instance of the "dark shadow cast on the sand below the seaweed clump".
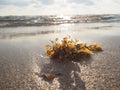
M 44 64 L 39 75 L 44 73 L 55 74 L 59 82 L 60 90 L 86 90 L 85 82 L 81 80 L 80 73 L 81 65 L 88 65 L 92 58 L 83 58 L 80 61 L 66 61 L 61 62 L 51 59 L 49 63 Z M 45 81 L 52 83 L 52 81 Z M 58 89 L 58 90 L 59 90 Z

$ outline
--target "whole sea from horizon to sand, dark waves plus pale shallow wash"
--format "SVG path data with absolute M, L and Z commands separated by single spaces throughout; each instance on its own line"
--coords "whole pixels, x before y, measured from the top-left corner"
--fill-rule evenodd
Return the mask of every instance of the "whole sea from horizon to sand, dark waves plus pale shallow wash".
M 81 30 L 120 29 L 119 14 L 0 16 L 0 39 Z

